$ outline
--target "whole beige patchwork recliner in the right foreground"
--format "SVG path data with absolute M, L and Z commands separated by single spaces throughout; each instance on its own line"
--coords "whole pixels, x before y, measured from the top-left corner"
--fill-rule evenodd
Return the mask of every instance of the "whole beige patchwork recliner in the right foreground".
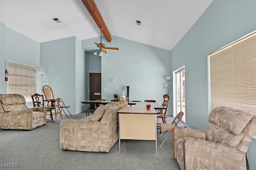
M 175 127 L 174 157 L 183 170 L 246 170 L 246 152 L 256 130 L 256 115 L 234 107 L 216 107 L 204 131 Z

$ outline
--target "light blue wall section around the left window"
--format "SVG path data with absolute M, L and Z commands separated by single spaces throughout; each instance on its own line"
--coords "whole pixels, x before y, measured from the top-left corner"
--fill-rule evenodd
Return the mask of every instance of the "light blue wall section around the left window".
M 9 29 L 3 22 L 0 22 L 0 28 L 0 93 L 6 93 L 7 82 L 4 81 L 5 60 L 6 62 L 14 61 L 38 67 L 40 66 L 40 43 Z M 32 102 L 26 104 L 28 107 L 33 107 Z

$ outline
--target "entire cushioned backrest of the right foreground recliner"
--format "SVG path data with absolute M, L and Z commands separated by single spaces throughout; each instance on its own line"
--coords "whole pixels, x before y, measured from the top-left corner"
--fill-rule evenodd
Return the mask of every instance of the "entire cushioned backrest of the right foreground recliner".
M 220 106 L 209 115 L 206 140 L 246 152 L 256 129 L 256 115 L 234 107 Z M 250 127 L 250 128 L 249 128 Z

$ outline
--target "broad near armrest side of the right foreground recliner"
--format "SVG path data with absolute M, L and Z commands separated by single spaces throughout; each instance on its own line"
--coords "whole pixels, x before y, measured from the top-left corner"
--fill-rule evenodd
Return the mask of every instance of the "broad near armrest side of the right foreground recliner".
M 246 169 L 246 154 L 237 148 L 201 139 L 184 138 L 184 169 Z

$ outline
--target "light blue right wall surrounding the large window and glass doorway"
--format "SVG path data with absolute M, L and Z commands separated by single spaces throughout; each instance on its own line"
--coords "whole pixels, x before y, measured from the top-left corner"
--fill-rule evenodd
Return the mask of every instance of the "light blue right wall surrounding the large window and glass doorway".
M 186 64 L 186 123 L 190 128 L 204 130 L 208 125 L 207 55 L 254 30 L 255 0 L 214 0 L 172 50 L 171 70 Z M 250 169 L 256 169 L 255 145 L 256 139 L 252 139 Z

